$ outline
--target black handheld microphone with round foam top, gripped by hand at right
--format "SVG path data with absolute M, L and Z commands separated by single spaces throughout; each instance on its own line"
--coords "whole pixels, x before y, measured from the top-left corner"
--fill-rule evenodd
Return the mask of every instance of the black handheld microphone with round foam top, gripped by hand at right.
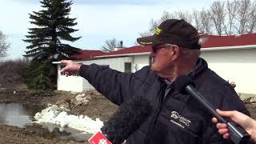
M 193 98 L 195 98 L 207 110 L 207 112 L 213 114 L 214 117 L 218 119 L 218 122 L 226 123 L 230 132 L 230 139 L 235 144 L 241 144 L 242 142 L 246 142 L 250 139 L 250 134 L 248 134 L 246 130 L 242 129 L 242 127 L 238 126 L 234 122 L 227 122 L 226 119 L 217 114 L 214 106 L 208 102 L 206 98 L 198 92 L 198 90 L 194 88 L 194 82 L 189 76 L 179 76 L 175 79 L 174 86 L 175 89 L 182 94 L 190 94 Z

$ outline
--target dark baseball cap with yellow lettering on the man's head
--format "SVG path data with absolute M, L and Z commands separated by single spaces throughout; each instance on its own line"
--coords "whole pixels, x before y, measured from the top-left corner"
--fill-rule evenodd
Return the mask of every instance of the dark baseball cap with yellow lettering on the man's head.
M 143 46 L 157 46 L 170 43 L 189 49 L 200 49 L 198 30 L 183 19 L 168 19 L 158 26 L 154 35 L 137 38 L 137 42 Z

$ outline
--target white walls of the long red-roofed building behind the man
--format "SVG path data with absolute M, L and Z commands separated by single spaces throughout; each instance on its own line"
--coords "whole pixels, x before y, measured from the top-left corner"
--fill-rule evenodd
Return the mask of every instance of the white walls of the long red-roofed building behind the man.
M 247 50 L 202 50 L 211 70 L 229 82 L 235 82 L 238 93 L 256 94 L 256 49 Z M 124 71 L 124 63 L 132 63 L 132 72 L 149 65 L 149 55 L 135 55 L 123 58 L 106 58 L 84 61 L 84 64 L 108 65 L 114 70 Z M 58 90 L 82 91 L 94 89 L 81 77 L 65 77 L 58 74 Z

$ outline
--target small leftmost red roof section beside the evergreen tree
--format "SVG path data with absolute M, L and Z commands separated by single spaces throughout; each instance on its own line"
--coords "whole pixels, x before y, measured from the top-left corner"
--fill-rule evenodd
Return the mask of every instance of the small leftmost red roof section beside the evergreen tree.
M 76 58 L 77 60 L 86 61 L 86 60 L 94 59 L 95 56 L 105 54 L 101 50 L 81 50 L 80 53 L 81 54 L 74 55 L 73 57 Z

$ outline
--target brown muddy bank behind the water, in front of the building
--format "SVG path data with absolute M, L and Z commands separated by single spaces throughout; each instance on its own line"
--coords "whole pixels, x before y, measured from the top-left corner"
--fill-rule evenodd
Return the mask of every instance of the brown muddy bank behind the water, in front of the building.
M 39 110 L 46 108 L 49 104 L 62 105 L 70 110 L 70 114 L 83 114 L 93 119 L 101 118 L 103 121 L 106 121 L 118 108 L 95 90 L 86 91 L 83 94 L 90 102 L 78 102 L 75 99 L 78 94 L 66 91 L 56 90 L 42 94 L 30 90 L 3 89 L 0 90 L 0 102 L 34 105 L 38 106 Z

